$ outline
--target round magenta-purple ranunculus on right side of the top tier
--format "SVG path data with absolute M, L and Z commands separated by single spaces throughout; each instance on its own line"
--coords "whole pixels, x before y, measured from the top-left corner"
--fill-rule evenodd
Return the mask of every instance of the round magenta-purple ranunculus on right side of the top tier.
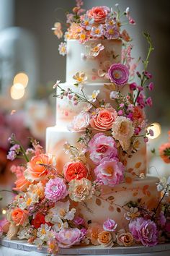
M 112 64 L 109 67 L 109 79 L 114 82 L 115 85 L 125 85 L 129 78 L 129 69 L 123 64 Z

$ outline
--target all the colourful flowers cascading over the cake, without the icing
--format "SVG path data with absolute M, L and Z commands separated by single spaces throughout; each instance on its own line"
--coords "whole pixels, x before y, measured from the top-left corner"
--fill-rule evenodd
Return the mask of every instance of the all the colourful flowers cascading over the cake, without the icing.
M 125 30 L 120 32 L 120 17 L 127 17 L 130 24 L 135 24 L 129 9 L 120 14 L 116 5 L 116 11 L 108 7 L 93 7 L 85 12 L 82 4 L 82 1 L 76 1 L 73 14 L 67 14 L 67 23 L 71 25 L 65 38 L 74 38 L 80 43 L 98 37 L 130 41 Z M 60 23 L 55 24 L 54 32 L 58 38 L 63 36 Z M 94 90 L 92 95 L 85 95 L 84 72 L 73 74 L 75 86 L 80 88 L 79 93 L 62 88 L 60 80 L 53 86 L 61 90 L 56 97 L 68 98 L 75 106 L 85 103 L 79 115 L 68 125 L 71 132 L 80 132 L 80 147 L 76 148 L 69 142 L 63 145 L 64 152 L 70 155 L 70 161 L 63 166 L 62 171 L 58 171 L 55 155 L 44 153 L 36 140 L 31 140 L 31 147 L 25 150 L 14 135 L 9 138 L 12 148 L 7 158 L 23 158 L 24 163 L 22 166 L 12 166 L 12 172 L 17 176 L 13 189 L 16 195 L 8 205 L 6 220 L 1 221 L 2 236 L 7 234 L 8 239 L 16 236 L 18 239 L 27 239 L 27 242 L 37 244 L 39 248 L 47 246 L 48 253 L 53 255 L 58 254 L 59 248 L 77 244 L 108 248 L 117 245 L 130 247 L 134 244 L 155 246 L 158 242 L 169 241 L 170 205 L 165 198 L 169 193 L 170 179 L 157 184 L 162 197 L 156 208 L 148 209 L 140 201 L 120 205 L 125 210 L 127 229 L 119 229 L 112 218 L 106 219 L 104 223 L 91 223 L 74 208 L 75 203 L 86 205 L 92 197 L 102 199 L 103 185 L 115 187 L 121 182 L 133 182 L 136 178 L 136 174 L 129 176 L 125 158 L 138 151 L 141 138 L 147 142 L 147 135 L 153 135 L 153 131 L 147 129 L 143 112 L 145 106 L 152 105 L 151 97 L 146 98 L 144 90 L 153 90 L 153 82 L 150 82 L 152 75 L 147 70 L 153 46 L 148 33 L 144 36 L 149 47 L 142 72 L 136 71 L 137 64 L 133 63 L 130 44 L 123 51 L 122 63 L 111 64 L 107 69 L 110 83 L 105 86 L 113 104 L 100 100 L 99 90 Z M 64 55 L 66 43 L 61 43 L 59 48 Z M 95 57 L 102 50 L 102 45 L 97 45 L 97 48 L 91 49 L 91 55 Z M 131 81 L 135 75 L 138 83 Z M 115 85 L 121 88 L 127 83 L 130 84 L 128 95 L 114 90 Z M 160 150 L 161 157 L 164 155 L 164 159 L 165 156 L 167 159 L 169 149 L 162 147 Z M 94 164 L 93 170 L 86 161 L 88 157 Z M 91 171 L 94 171 L 94 176 Z M 138 178 L 143 179 L 143 176 L 141 174 Z M 112 198 L 109 201 L 114 203 Z

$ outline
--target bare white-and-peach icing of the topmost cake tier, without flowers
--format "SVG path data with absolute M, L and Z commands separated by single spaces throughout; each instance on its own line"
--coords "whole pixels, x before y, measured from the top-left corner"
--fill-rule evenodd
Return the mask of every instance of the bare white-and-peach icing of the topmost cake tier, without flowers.
M 97 46 L 98 43 L 102 43 L 104 50 L 100 51 L 98 56 L 83 58 L 83 56 L 89 54 L 90 48 Z M 73 75 L 76 72 L 84 72 L 88 77 L 87 82 L 109 82 L 108 79 L 99 77 L 97 72 L 99 69 L 105 70 L 108 61 L 110 64 L 120 62 L 121 51 L 121 40 L 91 39 L 84 44 L 79 43 L 79 40 L 68 40 L 66 81 L 73 82 Z

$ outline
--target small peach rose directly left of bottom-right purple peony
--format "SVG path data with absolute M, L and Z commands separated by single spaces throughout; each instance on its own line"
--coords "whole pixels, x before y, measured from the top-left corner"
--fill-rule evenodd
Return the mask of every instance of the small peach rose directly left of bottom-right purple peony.
M 130 232 L 121 229 L 117 233 L 117 243 L 125 247 L 130 247 L 133 245 L 133 235 Z

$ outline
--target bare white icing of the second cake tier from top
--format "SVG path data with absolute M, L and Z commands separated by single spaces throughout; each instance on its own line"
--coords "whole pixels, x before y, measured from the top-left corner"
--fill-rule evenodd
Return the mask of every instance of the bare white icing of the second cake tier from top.
M 60 86 L 64 90 L 67 90 L 68 88 L 70 88 L 76 93 L 81 93 L 80 88 L 77 88 L 75 85 L 73 85 L 73 83 L 71 84 L 71 83 L 65 82 Z M 100 91 L 98 96 L 99 100 L 105 100 L 106 103 L 111 103 L 112 106 L 115 105 L 116 107 L 115 101 L 109 98 L 109 93 L 110 93 L 109 86 L 112 86 L 112 90 L 120 91 L 122 95 L 128 95 L 128 93 L 130 93 L 129 85 L 118 87 L 117 85 L 111 85 L 109 83 L 106 83 L 106 84 L 86 83 L 84 85 L 84 95 L 86 96 L 86 98 L 88 98 L 88 95 L 92 95 L 94 90 L 99 90 Z M 58 88 L 57 94 L 60 95 L 60 93 L 61 93 L 61 90 L 60 88 Z M 86 105 L 87 103 L 78 103 L 78 105 L 75 106 L 73 104 L 73 101 L 69 100 L 68 97 L 66 96 L 64 96 L 62 99 L 57 98 L 56 99 L 56 124 L 58 125 L 58 127 L 62 127 L 62 128 L 67 127 L 68 124 L 73 120 L 73 116 L 76 116 L 77 114 L 79 114 L 82 108 Z

